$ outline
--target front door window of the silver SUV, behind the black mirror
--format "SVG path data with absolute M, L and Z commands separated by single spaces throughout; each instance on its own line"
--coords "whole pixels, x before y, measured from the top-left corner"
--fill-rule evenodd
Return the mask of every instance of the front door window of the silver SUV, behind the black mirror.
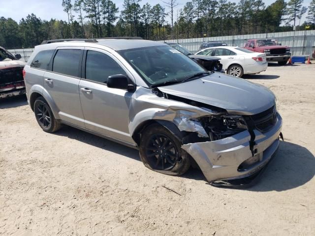
M 106 54 L 88 51 L 85 78 L 100 83 L 106 83 L 110 75 L 126 75 L 123 68 L 111 57 Z

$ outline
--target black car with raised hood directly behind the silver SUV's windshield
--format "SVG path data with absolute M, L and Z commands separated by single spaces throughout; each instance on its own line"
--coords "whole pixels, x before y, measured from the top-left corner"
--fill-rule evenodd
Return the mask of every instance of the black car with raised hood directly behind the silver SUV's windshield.
M 167 45 L 175 48 L 176 50 L 180 51 L 181 53 L 185 54 L 189 58 L 193 59 L 203 67 L 205 67 L 209 71 L 217 71 L 217 72 L 224 72 L 222 70 L 222 64 L 220 63 L 220 58 L 218 57 L 204 57 L 200 55 L 195 55 L 189 52 L 189 50 L 178 43 L 166 43 Z

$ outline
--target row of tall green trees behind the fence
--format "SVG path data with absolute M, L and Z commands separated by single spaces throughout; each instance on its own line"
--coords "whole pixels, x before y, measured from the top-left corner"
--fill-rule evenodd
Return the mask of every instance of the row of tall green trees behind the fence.
M 72 2 L 73 5 L 72 5 Z M 41 20 L 34 14 L 19 23 L 0 17 L 0 45 L 29 48 L 43 40 L 59 38 L 97 38 L 140 36 L 146 39 L 224 36 L 292 30 L 307 12 L 307 23 L 315 29 L 315 0 L 307 8 L 303 0 L 275 0 L 265 6 L 263 0 L 191 0 L 178 6 L 178 0 L 164 4 L 140 5 L 141 0 L 124 0 L 119 11 L 114 0 L 62 0 L 68 21 Z M 165 11 L 165 8 L 167 11 Z M 74 16 L 74 14 L 76 14 Z M 170 22 L 167 22 L 166 16 Z M 76 20 L 76 19 L 77 20 Z M 285 26 L 282 24 L 286 22 Z

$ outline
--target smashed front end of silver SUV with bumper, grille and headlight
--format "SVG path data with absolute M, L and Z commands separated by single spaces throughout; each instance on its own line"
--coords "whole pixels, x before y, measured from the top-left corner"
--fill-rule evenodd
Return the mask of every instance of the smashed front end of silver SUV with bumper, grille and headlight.
M 246 187 L 267 166 L 279 146 L 282 118 L 276 107 L 256 115 L 229 115 L 221 108 L 163 93 L 164 98 L 198 107 L 208 115 L 179 110 L 173 122 L 182 148 L 215 186 Z

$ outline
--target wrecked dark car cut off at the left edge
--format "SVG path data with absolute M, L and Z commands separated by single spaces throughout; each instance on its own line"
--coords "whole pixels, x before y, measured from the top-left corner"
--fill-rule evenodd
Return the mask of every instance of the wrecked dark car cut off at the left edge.
M 21 55 L 13 56 L 5 48 L 0 47 L 0 98 L 25 94 L 23 80 L 24 61 Z

